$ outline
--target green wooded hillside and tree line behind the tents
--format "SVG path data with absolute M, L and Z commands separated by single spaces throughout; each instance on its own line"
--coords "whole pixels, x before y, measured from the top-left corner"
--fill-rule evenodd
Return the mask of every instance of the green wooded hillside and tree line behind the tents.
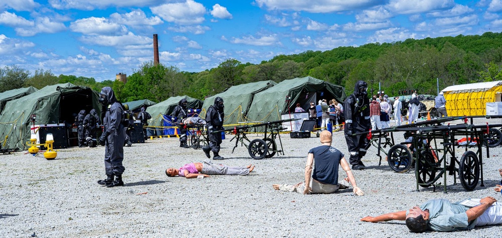
M 17 66 L 6 66 L 0 68 L 0 92 L 70 82 L 96 91 L 110 86 L 122 102 L 141 99 L 160 102 L 179 95 L 203 100 L 233 85 L 263 80 L 279 83 L 305 76 L 341 85 L 347 94 L 352 93 L 356 81 L 364 80 L 370 93 L 375 93 L 380 84 L 391 96 L 403 90 L 435 95 L 437 81 L 441 90 L 457 84 L 502 80 L 502 33 L 305 51 L 279 55 L 260 64 L 227 59 L 218 67 L 202 72 L 182 72 L 174 66 L 145 62 L 128 76 L 126 84 L 114 79 L 96 82 L 82 76 L 54 76 L 43 69 L 30 76 Z

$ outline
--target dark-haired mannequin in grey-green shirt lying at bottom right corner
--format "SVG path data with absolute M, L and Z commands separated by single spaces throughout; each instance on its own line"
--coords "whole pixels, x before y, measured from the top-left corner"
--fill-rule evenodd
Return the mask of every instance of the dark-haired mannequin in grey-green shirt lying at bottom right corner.
M 502 224 L 502 203 L 490 196 L 457 203 L 433 199 L 409 210 L 361 219 L 369 222 L 389 220 L 406 220 L 412 232 L 472 229 L 474 226 Z

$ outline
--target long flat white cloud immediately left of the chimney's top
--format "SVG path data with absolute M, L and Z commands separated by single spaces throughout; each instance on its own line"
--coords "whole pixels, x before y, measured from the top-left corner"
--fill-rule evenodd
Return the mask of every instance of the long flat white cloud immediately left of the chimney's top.
M 136 36 L 131 32 L 122 36 L 82 36 L 80 37 L 80 40 L 90 45 L 112 46 L 124 49 L 126 47 L 153 49 L 152 38 Z

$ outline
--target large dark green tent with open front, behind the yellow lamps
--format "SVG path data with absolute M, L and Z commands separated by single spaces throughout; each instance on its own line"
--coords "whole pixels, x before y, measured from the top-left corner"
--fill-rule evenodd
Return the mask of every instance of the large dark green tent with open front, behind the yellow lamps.
M 36 115 L 36 125 L 73 123 L 75 116 L 84 109 L 92 108 L 101 112 L 99 94 L 88 87 L 71 83 L 46 86 L 30 95 L 12 100 L 0 114 L 0 138 L 7 140 L 7 149 L 27 149 L 30 140 L 32 115 Z M 7 136 L 7 139 L 5 139 Z M 55 138 L 57 139 L 57 138 Z

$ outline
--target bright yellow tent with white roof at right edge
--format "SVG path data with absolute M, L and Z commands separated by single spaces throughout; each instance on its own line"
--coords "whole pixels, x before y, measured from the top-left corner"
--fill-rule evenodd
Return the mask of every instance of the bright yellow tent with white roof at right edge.
M 453 85 L 441 92 L 448 116 L 484 116 L 486 103 L 500 102 L 502 81 Z

